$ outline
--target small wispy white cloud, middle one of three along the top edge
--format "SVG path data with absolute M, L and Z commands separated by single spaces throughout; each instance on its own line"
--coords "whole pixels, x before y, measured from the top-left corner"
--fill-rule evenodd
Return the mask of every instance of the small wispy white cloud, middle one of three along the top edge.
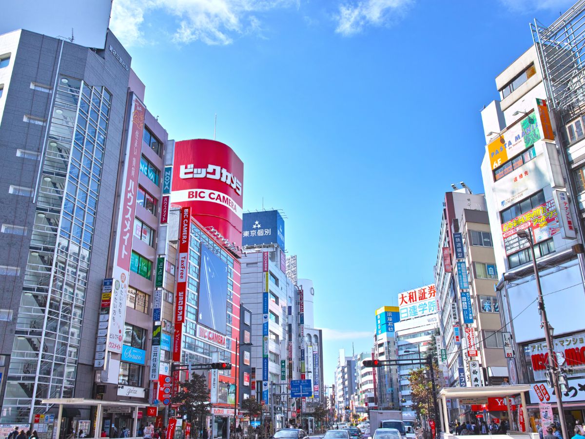
M 339 6 L 335 32 L 345 36 L 362 32 L 368 25 L 384 26 L 402 18 L 413 0 L 361 0 Z

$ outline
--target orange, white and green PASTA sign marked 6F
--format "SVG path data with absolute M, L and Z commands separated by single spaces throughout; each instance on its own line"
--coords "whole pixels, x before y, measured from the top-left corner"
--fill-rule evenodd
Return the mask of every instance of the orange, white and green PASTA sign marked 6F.
M 550 124 L 546 101 L 536 99 L 534 110 L 509 126 L 487 146 L 491 169 L 502 166 L 523 150 L 530 148 L 536 140 L 555 140 Z

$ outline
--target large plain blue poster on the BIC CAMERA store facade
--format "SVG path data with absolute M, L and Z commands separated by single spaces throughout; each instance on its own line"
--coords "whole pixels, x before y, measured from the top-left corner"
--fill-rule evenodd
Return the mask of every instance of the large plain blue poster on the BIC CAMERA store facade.
M 198 323 L 225 334 L 228 300 L 228 265 L 201 244 Z

